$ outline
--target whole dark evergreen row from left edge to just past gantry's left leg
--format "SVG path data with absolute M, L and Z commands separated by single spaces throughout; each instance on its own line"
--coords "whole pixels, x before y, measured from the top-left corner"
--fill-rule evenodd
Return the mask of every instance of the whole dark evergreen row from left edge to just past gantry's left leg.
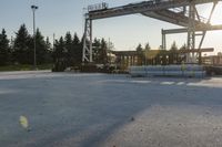
M 22 24 L 16 32 L 14 39 L 9 40 L 2 29 L 0 33 L 0 65 L 33 64 L 33 35 L 29 34 L 27 27 Z M 80 65 L 82 62 L 83 40 L 77 33 L 72 36 L 67 32 L 64 36 L 50 43 L 49 38 L 42 35 L 39 29 L 36 33 L 37 64 L 62 64 L 63 67 Z M 94 63 L 105 64 L 108 43 L 104 39 L 93 41 Z

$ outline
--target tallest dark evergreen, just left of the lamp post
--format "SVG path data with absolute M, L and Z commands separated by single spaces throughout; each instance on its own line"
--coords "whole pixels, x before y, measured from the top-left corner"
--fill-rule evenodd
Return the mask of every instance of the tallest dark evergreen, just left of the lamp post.
M 33 49 L 30 49 L 31 36 L 24 24 L 22 24 L 19 31 L 16 33 L 13 45 L 13 61 L 21 64 L 30 64 L 31 53 Z M 33 57 L 32 57 L 33 59 Z M 33 60 L 32 60 L 33 61 Z

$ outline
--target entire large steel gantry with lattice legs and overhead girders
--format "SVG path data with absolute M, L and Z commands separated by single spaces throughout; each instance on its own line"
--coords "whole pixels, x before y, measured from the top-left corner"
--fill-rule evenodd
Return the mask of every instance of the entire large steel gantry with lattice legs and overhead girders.
M 222 30 L 222 25 L 212 25 L 210 23 L 219 1 L 222 0 L 149 0 L 115 8 L 108 8 L 108 4 L 104 2 L 89 6 L 88 12 L 84 14 L 82 62 L 92 62 L 92 20 L 141 13 L 145 17 L 182 27 L 181 29 L 162 30 L 162 49 L 167 49 L 165 34 L 185 32 L 188 33 L 186 50 L 190 51 L 186 53 L 186 63 L 195 63 L 196 56 L 201 52 L 192 51 L 201 50 L 206 31 Z M 201 17 L 196 9 L 198 4 L 205 3 L 213 3 L 208 19 Z M 195 48 L 195 38 L 198 35 L 201 36 L 201 41 L 199 46 Z

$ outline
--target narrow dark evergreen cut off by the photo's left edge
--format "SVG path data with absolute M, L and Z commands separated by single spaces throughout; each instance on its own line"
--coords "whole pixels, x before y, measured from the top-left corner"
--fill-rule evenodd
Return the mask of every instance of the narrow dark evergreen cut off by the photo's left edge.
M 2 29 L 0 33 L 0 65 L 6 65 L 9 63 L 10 48 L 9 40 L 6 34 L 6 30 Z

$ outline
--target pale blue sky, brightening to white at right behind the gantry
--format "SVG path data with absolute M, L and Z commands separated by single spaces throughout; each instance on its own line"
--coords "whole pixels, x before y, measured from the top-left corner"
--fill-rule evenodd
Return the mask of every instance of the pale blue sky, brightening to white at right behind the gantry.
M 109 7 L 118 7 L 140 0 L 0 0 L 0 29 L 4 28 L 8 38 L 13 38 L 14 32 L 24 23 L 29 33 L 32 34 L 31 4 L 39 9 L 36 11 L 37 27 L 44 36 L 52 41 L 70 31 L 83 34 L 83 8 L 89 4 L 108 2 Z M 199 7 L 200 14 L 208 17 L 212 6 Z M 222 24 L 222 3 L 216 7 L 212 23 Z M 161 45 L 161 29 L 180 28 L 163 21 L 154 20 L 141 14 L 132 14 L 93 21 L 93 38 L 104 38 L 114 44 L 114 50 L 134 50 L 139 43 L 150 43 L 151 49 Z M 168 48 L 176 42 L 182 46 L 186 42 L 186 34 L 167 35 Z M 215 53 L 222 51 L 222 31 L 208 32 L 203 48 L 214 48 Z M 214 53 L 214 54 L 215 54 Z

